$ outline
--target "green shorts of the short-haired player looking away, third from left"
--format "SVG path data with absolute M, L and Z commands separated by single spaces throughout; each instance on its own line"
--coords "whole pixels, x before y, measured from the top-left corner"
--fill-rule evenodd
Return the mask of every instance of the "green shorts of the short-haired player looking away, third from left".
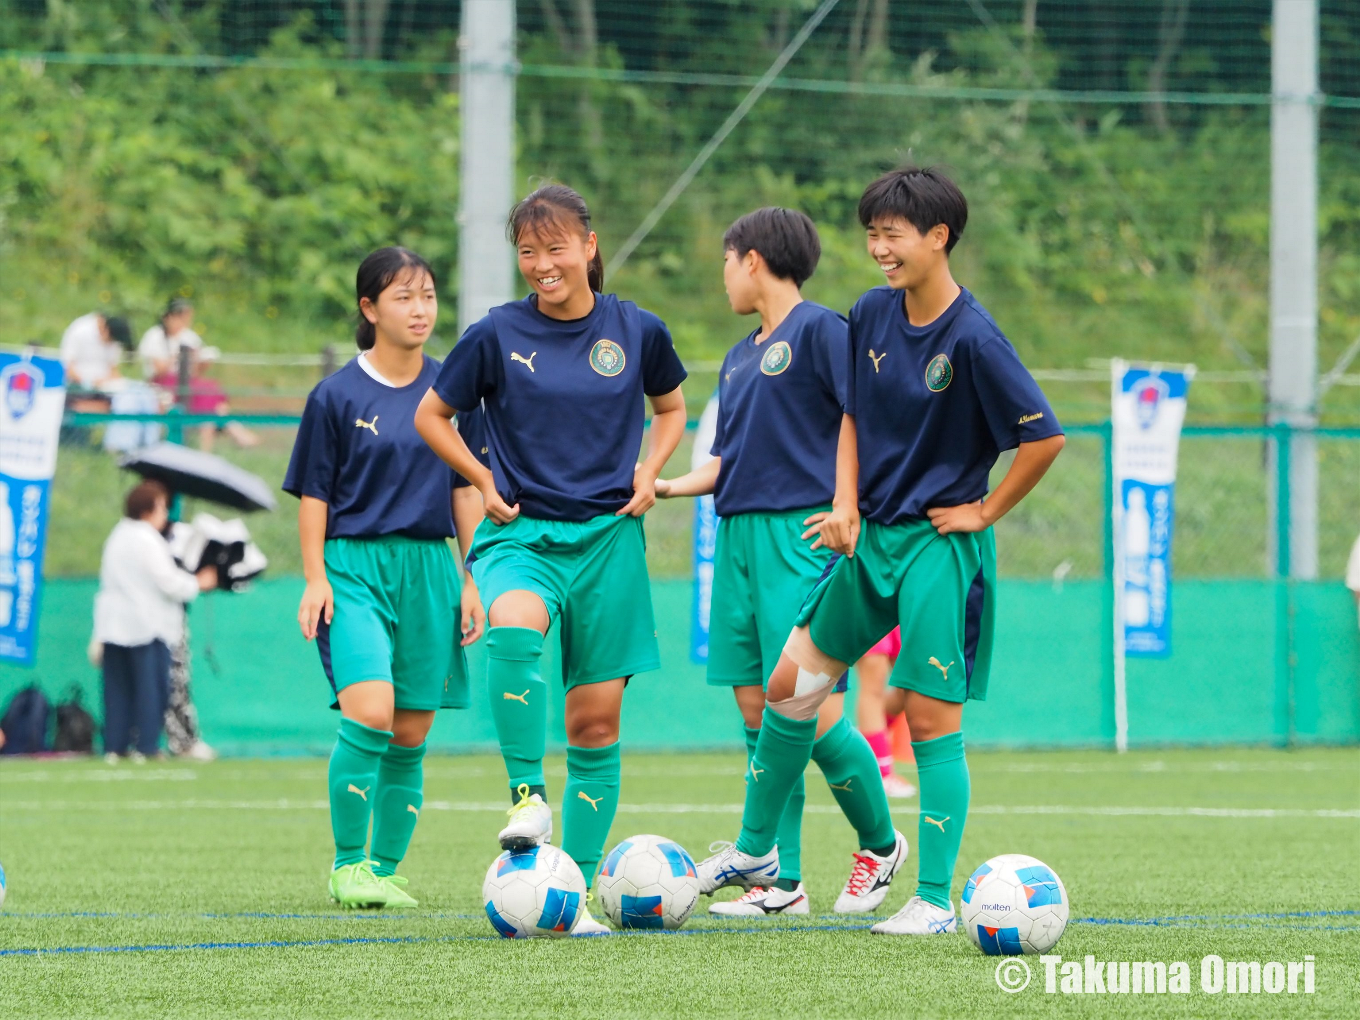
M 831 559 L 802 537 L 802 522 L 820 510 L 830 507 L 733 514 L 718 522 L 709 611 L 709 683 L 714 687 L 770 680 L 798 607 Z

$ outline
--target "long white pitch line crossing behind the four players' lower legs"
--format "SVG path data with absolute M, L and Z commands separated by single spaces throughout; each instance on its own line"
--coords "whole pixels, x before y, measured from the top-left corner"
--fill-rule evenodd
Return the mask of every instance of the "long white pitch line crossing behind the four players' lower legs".
M 182 801 L 5 801 L 10 811 L 328 811 L 325 800 L 199 800 Z M 505 813 L 499 801 L 426 801 L 423 811 Z M 620 804 L 620 815 L 740 815 L 741 804 Z M 809 815 L 839 815 L 830 804 L 809 804 Z M 896 815 L 915 815 L 914 808 L 898 808 Z M 1077 804 L 976 804 L 970 815 L 1088 815 L 1107 817 L 1204 817 L 1204 819 L 1360 819 L 1360 808 L 1140 808 Z

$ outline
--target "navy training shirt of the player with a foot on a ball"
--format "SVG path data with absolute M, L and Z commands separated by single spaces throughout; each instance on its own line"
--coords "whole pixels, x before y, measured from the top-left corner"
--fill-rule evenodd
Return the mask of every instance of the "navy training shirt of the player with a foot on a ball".
M 567 322 L 534 296 L 491 309 L 445 359 L 434 392 L 481 404 L 496 491 L 521 513 L 589 521 L 632 499 L 643 397 L 685 378 L 665 324 L 612 294 Z

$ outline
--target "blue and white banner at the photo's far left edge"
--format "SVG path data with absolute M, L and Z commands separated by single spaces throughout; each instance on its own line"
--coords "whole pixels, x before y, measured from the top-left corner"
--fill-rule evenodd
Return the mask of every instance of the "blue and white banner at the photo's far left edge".
M 61 362 L 0 354 L 0 660 L 38 650 L 42 549 L 65 408 Z

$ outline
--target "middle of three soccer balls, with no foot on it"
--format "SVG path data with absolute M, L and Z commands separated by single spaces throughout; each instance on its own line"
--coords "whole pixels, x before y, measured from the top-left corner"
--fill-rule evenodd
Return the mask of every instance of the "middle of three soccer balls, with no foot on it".
M 676 929 L 699 902 L 694 858 L 662 836 L 619 843 L 604 860 L 596 888 L 615 928 Z

